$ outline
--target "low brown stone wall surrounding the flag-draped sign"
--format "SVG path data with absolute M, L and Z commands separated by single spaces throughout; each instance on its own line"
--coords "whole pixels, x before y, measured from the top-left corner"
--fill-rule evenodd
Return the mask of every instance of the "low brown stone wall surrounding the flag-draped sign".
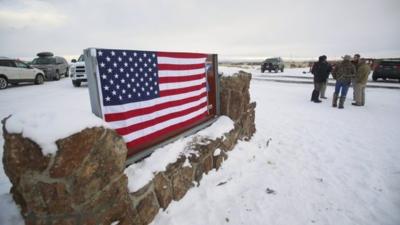
M 238 140 L 251 138 L 256 105 L 250 103 L 250 80 L 244 72 L 221 79 L 221 114 L 235 122 L 233 130 L 216 140 L 193 140 L 188 146 L 193 154 L 169 164 L 134 193 L 123 173 L 126 147 L 114 131 L 85 129 L 58 140 L 56 155 L 44 156 L 36 143 L 3 125 L 4 170 L 26 224 L 149 224 L 159 209 L 200 185 L 203 174 L 218 170 Z M 190 166 L 184 166 L 186 160 Z

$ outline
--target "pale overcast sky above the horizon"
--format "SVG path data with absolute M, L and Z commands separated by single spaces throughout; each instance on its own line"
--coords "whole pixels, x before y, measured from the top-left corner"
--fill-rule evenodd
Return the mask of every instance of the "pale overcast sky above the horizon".
M 88 47 L 400 57 L 400 0 L 0 0 L 0 56 Z

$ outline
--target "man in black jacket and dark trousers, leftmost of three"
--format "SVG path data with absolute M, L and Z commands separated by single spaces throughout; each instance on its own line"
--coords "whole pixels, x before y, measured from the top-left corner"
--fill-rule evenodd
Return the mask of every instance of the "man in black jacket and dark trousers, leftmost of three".
M 326 61 L 326 56 L 320 56 L 318 62 L 314 63 L 311 69 L 311 73 L 314 75 L 314 90 L 311 94 L 311 101 L 315 103 L 321 102 L 321 100 L 319 100 L 319 92 L 324 82 L 327 81 L 331 71 L 332 67 Z

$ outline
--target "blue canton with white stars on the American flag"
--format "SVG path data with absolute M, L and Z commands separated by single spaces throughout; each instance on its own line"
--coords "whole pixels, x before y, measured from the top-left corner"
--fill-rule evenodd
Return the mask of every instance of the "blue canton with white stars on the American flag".
M 159 97 L 155 52 L 97 49 L 97 62 L 104 106 Z

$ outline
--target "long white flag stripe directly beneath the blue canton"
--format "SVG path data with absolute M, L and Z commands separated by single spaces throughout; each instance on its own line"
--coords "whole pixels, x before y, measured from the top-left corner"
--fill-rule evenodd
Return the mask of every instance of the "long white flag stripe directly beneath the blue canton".
M 142 102 L 132 102 L 128 104 L 123 104 L 119 106 L 104 106 L 104 113 L 105 114 L 111 114 L 111 113 L 120 113 L 120 112 L 128 112 L 132 109 L 141 109 L 141 108 L 146 108 L 150 106 L 154 106 L 156 104 L 161 104 L 161 103 L 167 103 L 170 101 L 176 101 L 176 100 L 181 100 L 189 97 L 194 97 L 197 95 L 201 95 L 206 92 L 206 88 L 203 87 L 199 90 L 188 92 L 188 93 L 183 93 L 179 95 L 172 95 L 172 96 L 165 96 L 165 97 L 160 97 L 152 100 L 147 100 L 147 101 L 142 101 Z

